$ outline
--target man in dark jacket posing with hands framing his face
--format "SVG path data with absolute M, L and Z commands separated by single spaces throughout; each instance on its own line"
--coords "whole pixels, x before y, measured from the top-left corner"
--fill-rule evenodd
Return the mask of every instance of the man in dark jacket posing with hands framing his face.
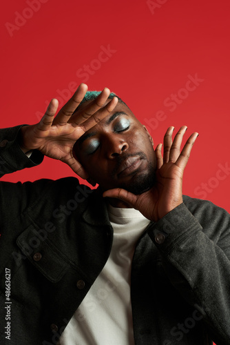
M 1 183 L 1 344 L 229 344 L 230 218 L 182 197 L 198 133 L 180 152 L 170 127 L 162 157 L 121 99 L 86 92 L 1 132 L 3 173 L 46 155 L 99 185 Z

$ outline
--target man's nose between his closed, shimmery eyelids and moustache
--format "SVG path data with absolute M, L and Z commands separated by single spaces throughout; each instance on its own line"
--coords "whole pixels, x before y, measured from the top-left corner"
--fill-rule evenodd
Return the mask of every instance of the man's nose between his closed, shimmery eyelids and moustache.
M 118 135 L 110 135 L 105 142 L 105 150 L 109 159 L 114 159 L 129 148 L 127 141 Z

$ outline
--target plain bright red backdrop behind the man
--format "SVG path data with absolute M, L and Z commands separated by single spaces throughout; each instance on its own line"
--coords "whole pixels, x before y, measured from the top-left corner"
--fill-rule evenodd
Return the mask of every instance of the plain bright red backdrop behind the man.
M 187 137 L 200 133 L 183 193 L 230 211 L 230 173 L 218 173 L 220 164 L 230 166 L 229 0 L 156 0 L 156 8 L 143 0 L 33 1 L 5 1 L 1 10 L 1 126 L 36 123 L 50 99 L 62 101 L 57 90 L 68 93 L 71 83 L 85 81 L 89 90 L 107 86 L 147 125 L 156 144 L 168 126 L 186 124 Z M 107 61 L 101 46 L 113 50 Z M 91 74 L 82 75 L 85 65 Z M 181 90 L 196 74 L 203 79 L 196 90 Z M 169 106 L 178 92 L 180 104 Z M 158 110 L 164 115 L 156 123 Z M 74 175 L 68 166 L 45 158 L 41 166 L 3 179 L 67 175 Z

